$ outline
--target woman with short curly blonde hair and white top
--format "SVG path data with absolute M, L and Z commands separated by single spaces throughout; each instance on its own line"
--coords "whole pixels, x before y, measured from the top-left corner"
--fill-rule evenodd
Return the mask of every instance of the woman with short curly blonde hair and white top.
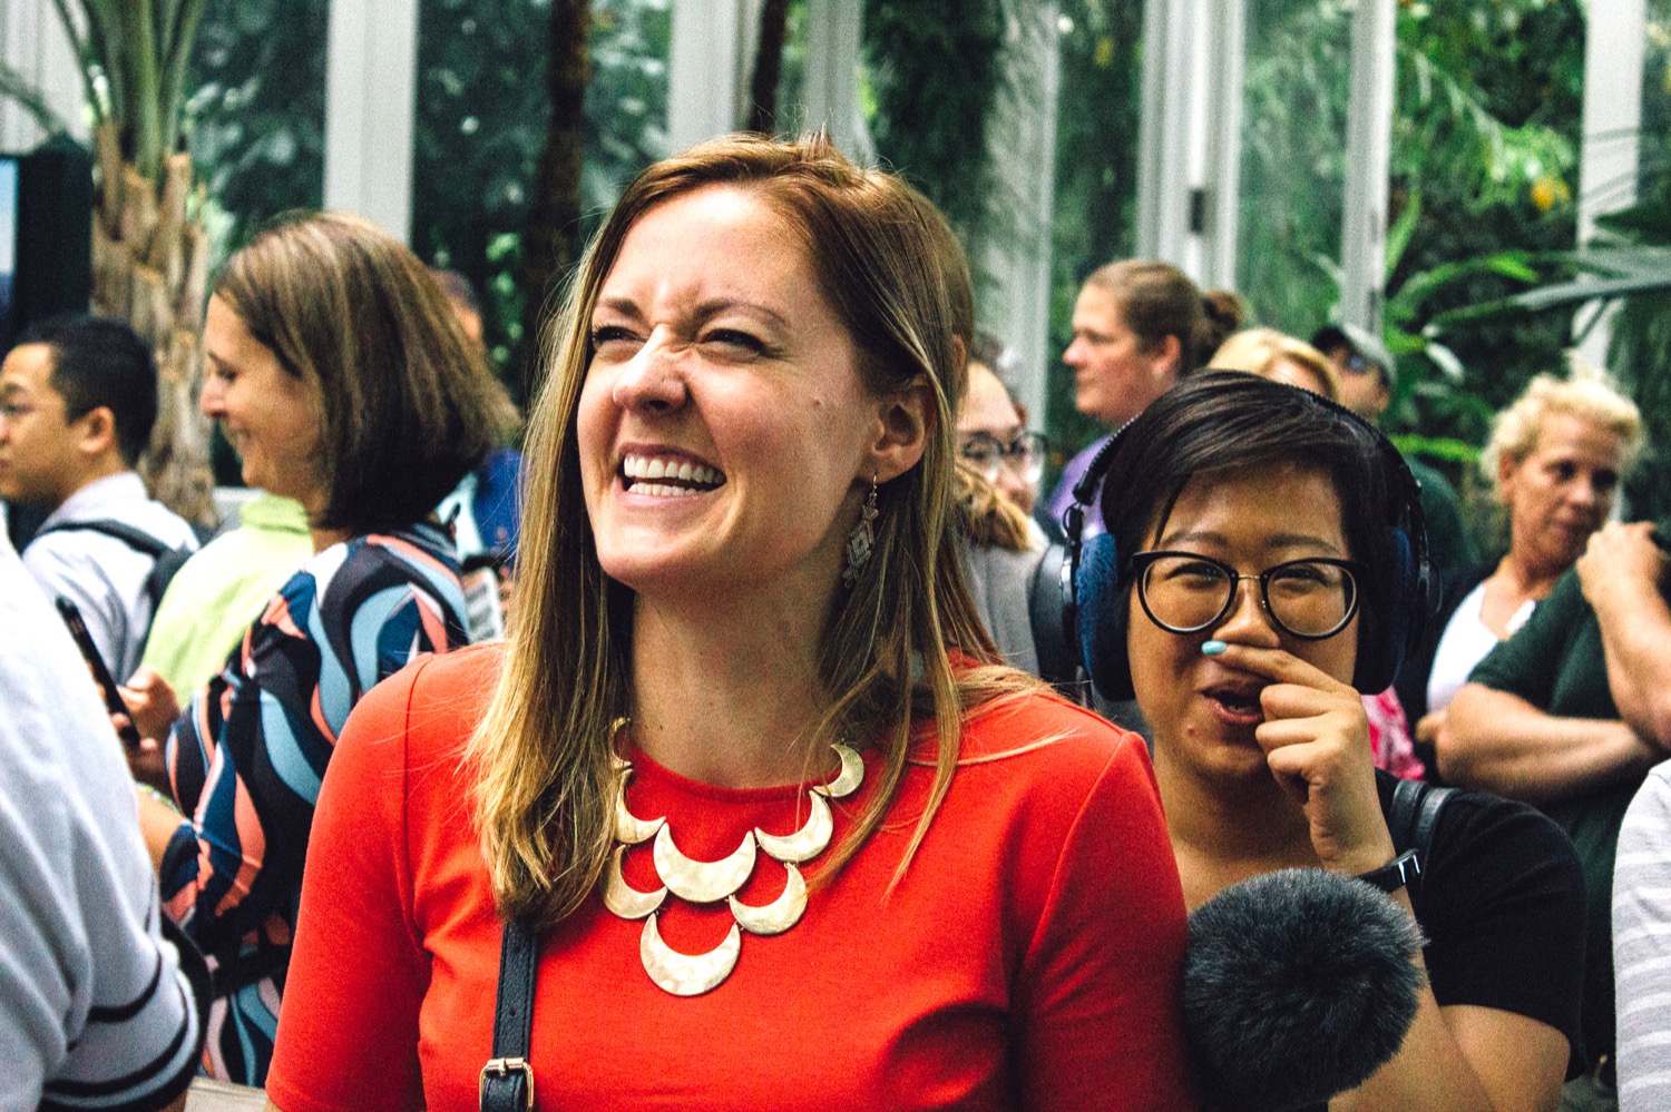
M 1574 366 L 1569 377 L 1539 374 L 1491 426 L 1481 476 L 1507 528 L 1509 551 L 1489 573 L 1449 584 L 1452 604 L 1402 685 L 1420 738 L 1437 741 L 1444 711 L 1474 665 L 1526 624 L 1556 579 L 1584 554 L 1613 513 L 1619 483 L 1641 447 L 1636 402 L 1602 371 Z

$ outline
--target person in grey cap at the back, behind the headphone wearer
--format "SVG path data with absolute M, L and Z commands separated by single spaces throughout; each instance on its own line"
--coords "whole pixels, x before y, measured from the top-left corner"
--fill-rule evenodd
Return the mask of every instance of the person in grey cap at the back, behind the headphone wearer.
M 1340 372 L 1340 402 L 1372 424 L 1392 404 L 1399 387 L 1399 364 L 1379 337 L 1345 321 L 1318 329 L 1312 347 L 1323 352 Z M 1479 556 L 1462 524 L 1462 501 L 1442 474 L 1410 452 L 1404 462 L 1422 486 L 1422 516 L 1427 524 L 1427 559 L 1434 581 L 1449 584 L 1467 574 Z

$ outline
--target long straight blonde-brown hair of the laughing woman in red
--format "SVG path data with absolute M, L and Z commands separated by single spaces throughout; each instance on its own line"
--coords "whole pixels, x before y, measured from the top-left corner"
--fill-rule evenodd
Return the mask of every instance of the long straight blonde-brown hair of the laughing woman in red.
M 881 825 L 899 790 L 912 726 L 937 730 L 934 785 L 899 867 L 926 835 L 957 763 L 962 718 L 1031 678 L 998 665 L 951 544 L 954 431 L 947 382 L 957 275 L 899 179 L 861 170 L 822 135 L 799 142 L 729 137 L 638 175 L 598 230 L 568 294 L 551 372 L 530 419 L 518 621 L 491 705 L 470 741 L 476 823 L 500 912 L 550 925 L 597 887 L 612 852 L 613 721 L 632 706 L 632 593 L 598 566 L 580 483 L 575 411 L 592 361 L 598 291 L 632 225 L 705 185 L 749 189 L 799 234 L 877 396 L 932 387 L 936 421 L 922 461 L 879 498 L 876 548 L 836 599 L 820 643 L 829 710 L 812 736 L 879 746 L 879 791 L 836 847 L 832 877 Z M 962 277 L 968 282 L 968 277 Z M 956 648 L 974 661 L 952 670 Z M 897 877 L 896 875 L 896 877 Z

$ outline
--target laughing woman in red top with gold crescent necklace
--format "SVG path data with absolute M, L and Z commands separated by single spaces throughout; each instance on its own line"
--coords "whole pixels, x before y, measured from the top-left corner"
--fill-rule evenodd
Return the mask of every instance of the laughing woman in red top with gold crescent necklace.
M 338 745 L 276 1107 L 1191 1105 L 1143 745 L 1001 666 L 959 581 L 922 204 L 824 137 L 622 195 L 530 421 L 510 641 Z

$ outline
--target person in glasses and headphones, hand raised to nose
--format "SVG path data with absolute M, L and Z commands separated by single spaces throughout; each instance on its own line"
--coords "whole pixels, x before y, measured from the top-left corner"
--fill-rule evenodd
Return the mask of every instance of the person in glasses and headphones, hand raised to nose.
M 1206 372 L 1103 464 L 1088 665 L 1153 726 L 1188 907 L 1278 868 L 1364 877 L 1420 925 L 1427 987 L 1399 1054 L 1333 1107 L 1554 1109 L 1577 1045 L 1571 843 L 1529 806 L 1457 793 L 1425 847 L 1397 845 L 1397 781 L 1370 763 L 1359 685 L 1390 683 L 1420 613 L 1397 451 L 1308 391 Z

